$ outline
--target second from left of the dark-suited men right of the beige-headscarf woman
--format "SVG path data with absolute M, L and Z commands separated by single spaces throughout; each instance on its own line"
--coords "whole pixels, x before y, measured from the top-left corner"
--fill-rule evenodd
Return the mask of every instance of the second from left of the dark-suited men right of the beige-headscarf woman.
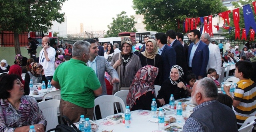
M 181 45 L 180 41 L 176 39 L 176 33 L 173 30 L 168 30 L 166 32 L 167 35 L 167 41 L 170 44 L 170 46 L 175 50 L 176 52 L 176 65 L 182 67 L 184 73 L 187 72 L 187 62 L 185 57 L 185 50 L 184 47 Z M 186 77 L 186 76 L 184 76 Z

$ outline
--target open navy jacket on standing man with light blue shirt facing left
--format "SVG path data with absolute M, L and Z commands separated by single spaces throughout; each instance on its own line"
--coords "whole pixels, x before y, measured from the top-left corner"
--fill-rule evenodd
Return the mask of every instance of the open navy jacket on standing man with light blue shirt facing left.
M 188 62 L 192 46 L 194 43 L 191 43 L 188 47 Z M 198 76 L 206 77 L 206 67 L 209 61 L 209 48 L 204 42 L 200 41 L 192 59 L 192 72 Z

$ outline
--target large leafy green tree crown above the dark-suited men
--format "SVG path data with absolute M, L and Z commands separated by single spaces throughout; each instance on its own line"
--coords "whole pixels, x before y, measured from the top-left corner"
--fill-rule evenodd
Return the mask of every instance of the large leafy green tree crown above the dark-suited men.
M 227 10 L 221 0 L 133 0 L 136 14 L 144 15 L 148 31 L 166 32 L 169 29 L 183 32 L 187 17 L 203 17 Z M 178 29 L 180 21 L 180 29 Z

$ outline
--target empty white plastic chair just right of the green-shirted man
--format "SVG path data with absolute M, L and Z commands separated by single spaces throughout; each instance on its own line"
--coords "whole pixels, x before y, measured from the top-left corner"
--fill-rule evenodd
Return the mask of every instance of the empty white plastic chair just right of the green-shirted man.
M 122 107 L 121 107 L 121 112 L 124 113 L 126 105 L 124 105 L 124 101 L 117 96 L 114 95 L 102 95 L 100 97 L 97 97 L 94 99 L 94 118 L 96 118 L 96 113 L 95 113 L 95 107 L 99 105 L 101 111 L 101 117 L 106 118 L 107 116 L 114 115 L 114 103 L 118 102 Z M 117 110 L 117 107 L 116 107 Z

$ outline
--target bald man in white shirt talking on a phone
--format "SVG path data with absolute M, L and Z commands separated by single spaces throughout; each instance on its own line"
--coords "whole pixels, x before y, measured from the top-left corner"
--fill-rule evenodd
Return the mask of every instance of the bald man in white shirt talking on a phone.
M 39 54 L 39 64 L 43 66 L 44 75 L 46 76 L 46 79 L 50 81 L 52 81 L 52 77 L 55 72 L 54 70 L 55 54 L 56 54 L 55 49 L 50 46 L 50 38 L 43 37 L 42 50 L 40 51 L 40 54 Z

